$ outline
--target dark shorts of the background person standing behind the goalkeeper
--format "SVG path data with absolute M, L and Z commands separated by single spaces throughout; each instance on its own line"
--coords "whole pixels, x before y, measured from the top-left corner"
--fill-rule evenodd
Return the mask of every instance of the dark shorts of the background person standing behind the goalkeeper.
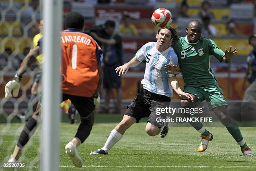
M 121 77 L 115 72 L 115 64 L 106 65 L 103 68 L 103 88 L 120 88 L 121 87 Z

